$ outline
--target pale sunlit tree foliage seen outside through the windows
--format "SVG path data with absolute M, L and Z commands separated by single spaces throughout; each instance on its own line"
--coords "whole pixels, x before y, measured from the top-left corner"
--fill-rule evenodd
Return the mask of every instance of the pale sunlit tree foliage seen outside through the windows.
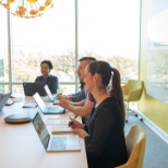
M 37 75 L 40 75 L 40 62 L 43 60 L 50 60 L 53 64 L 51 74 L 59 77 L 60 82 L 74 82 L 75 81 L 75 58 L 74 52 L 68 50 L 61 55 L 56 53 L 43 53 L 41 51 L 14 51 L 14 64 L 13 64 L 13 81 L 34 81 Z M 95 57 L 97 60 L 108 61 L 111 67 L 119 70 L 121 79 L 131 79 L 133 75 L 137 75 L 139 62 L 137 60 L 124 58 L 121 56 L 111 56 L 109 58 L 100 57 L 94 52 L 85 51 L 80 53 L 80 57 Z M 8 61 L 4 69 L 5 81 L 9 81 L 9 65 Z

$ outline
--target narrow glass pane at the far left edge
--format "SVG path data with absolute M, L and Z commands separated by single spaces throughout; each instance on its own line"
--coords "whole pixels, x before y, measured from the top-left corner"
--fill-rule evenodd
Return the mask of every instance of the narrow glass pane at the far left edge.
M 8 57 L 8 23 L 7 10 L 0 10 L 0 83 L 9 82 L 9 57 Z M 0 85 L 0 92 L 4 92 L 4 86 Z

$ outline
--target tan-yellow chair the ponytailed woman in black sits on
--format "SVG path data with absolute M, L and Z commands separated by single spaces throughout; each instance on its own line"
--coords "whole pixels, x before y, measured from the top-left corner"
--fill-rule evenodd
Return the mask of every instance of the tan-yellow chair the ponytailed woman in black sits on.
M 137 124 L 133 124 L 125 136 L 128 161 L 116 168 L 143 168 L 146 146 L 146 133 Z

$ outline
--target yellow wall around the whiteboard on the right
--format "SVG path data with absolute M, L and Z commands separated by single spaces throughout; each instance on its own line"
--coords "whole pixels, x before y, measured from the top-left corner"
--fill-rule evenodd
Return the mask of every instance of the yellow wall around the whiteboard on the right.
M 148 0 L 147 0 L 148 1 Z M 149 0 L 151 1 L 151 0 Z M 158 0 L 161 2 L 161 0 Z M 152 2 L 152 1 L 151 1 Z M 153 1 L 154 3 L 155 1 Z M 139 110 L 152 122 L 168 133 L 168 104 L 155 99 L 146 94 L 146 67 L 147 67 L 147 17 L 153 11 L 149 11 L 146 0 L 142 0 L 141 16 L 141 46 L 140 46 L 140 80 L 144 81 L 144 92 L 139 103 Z M 168 7 L 167 7 L 168 8 Z

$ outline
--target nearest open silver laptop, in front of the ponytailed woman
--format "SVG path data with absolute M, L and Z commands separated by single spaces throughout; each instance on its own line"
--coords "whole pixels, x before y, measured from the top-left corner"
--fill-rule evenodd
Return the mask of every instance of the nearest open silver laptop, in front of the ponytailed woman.
M 81 151 L 79 135 L 50 135 L 39 112 L 34 117 L 33 125 L 47 152 Z

